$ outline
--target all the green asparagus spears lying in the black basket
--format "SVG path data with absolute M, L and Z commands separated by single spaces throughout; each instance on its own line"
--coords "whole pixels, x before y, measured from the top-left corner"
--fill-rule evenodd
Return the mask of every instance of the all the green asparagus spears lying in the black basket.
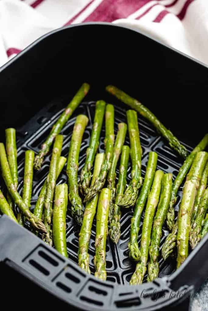
M 40 231 L 41 237 L 46 243 L 50 246 L 54 244 L 54 247 L 63 256 L 68 257 L 66 247 L 66 212 L 69 197 L 71 215 L 78 225 L 81 225 L 78 264 L 85 272 L 90 273 L 88 248 L 92 222 L 97 209 L 94 256 L 95 276 L 106 280 L 105 248 L 108 223 L 109 237 L 117 244 L 120 237 L 122 208 L 133 207 L 128 249 L 129 257 L 138 263 L 130 284 L 141 284 L 147 271 L 147 266 L 148 281 L 152 281 L 158 276 L 159 247 L 162 226 L 166 218 L 167 227 L 172 232 L 167 236 L 162 247 L 162 256 L 164 259 L 167 259 L 177 246 L 177 267 L 180 267 L 188 256 L 188 244 L 190 243 L 191 248 L 195 248 L 196 244 L 208 232 L 208 214 L 206 214 L 208 209 L 208 153 L 203 151 L 208 145 L 208 134 L 203 137 L 201 142 L 187 156 L 186 148 L 181 145 L 172 132 L 167 130 L 147 107 L 114 86 L 107 86 L 106 89 L 147 118 L 158 132 L 168 140 L 169 145 L 182 157 L 186 158 L 179 169 L 173 185 L 171 173 L 164 174 L 161 170 L 156 171 L 157 153 L 152 151 L 148 154 L 147 168 L 144 180 L 142 179 L 142 147 L 140 144 L 137 112 L 135 110 L 127 111 L 129 149 L 128 146 L 124 145 L 127 132 L 126 123 L 118 124 L 118 132 L 114 144 L 114 106 L 111 104 L 106 105 L 103 100 L 97 101 L 95 105 L 93 128 L 79 183 L 80 146 L 88 124 L 88 118 L 85 115 L 77 116 L 73 128 L 66 166 L 68 186 L 67 184 L 56 185 L 56 181 L 66 163 L 66 158 L 61 156 L 64 137 L 59 133 L 88 93 L 89 85 L 84 83 L 54 124 L 36 157 L 31 150 L 25 152 L 22 197 L 17 191 L 16 131 L 13 128 L 6 129 L 6 150 L 4 144 L 0 143 L 0 167 L 7 191 L 4 195 L 0 189 L 0 211 L 23 226 L 26 220 L 28 220 L 34 227 L 32 231 L 35 234 L 38 234 L 38 231 Z M 105 152 L 96 155 L 104 112 Z M 44 156 L 49 152 L 53 142 L 49 172 L 32 213 L 30 207 L 33 167 L 40 169 Z M 131 181 L 127 186 L 126 177 L 129 154 L 132 167 Z M 119 158 L 119 176 L 116 185 L 116 167 L 119 163 Z M 94 171 L 92 175 L 91 170 L 93 166 Z M 183 187 L 178 218 L 174 224 L 174 205 L 176 204 L 177 192 L 185 177 L 186 182 Z M 104 188 L 105 185 L 106 188 Z M 83 200 L 82 196 L 84 196 Z M 86 202 L 85 211 L 83 202 Z M 18 211 L 15 205 L 17 205 Z M 139 245 L 138 232 L 143 211 L 144 220 Z M 51 223 L 53 224 L 52 229 Z

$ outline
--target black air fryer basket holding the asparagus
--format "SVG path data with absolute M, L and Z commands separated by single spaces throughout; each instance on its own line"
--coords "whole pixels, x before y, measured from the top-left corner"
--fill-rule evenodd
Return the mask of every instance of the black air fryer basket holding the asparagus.
M 95 101 L 104 99 L 115 105 L 115 132 L 117 124 L 126 120 L 128 107 L 104 91 L 107 84 L 119 86 L 141 100 L 191 151 L 207 132 L 206 113 L 203 112 L 207 80 L 205 66 L 145 35 L 107 23 L 70 26 L 37 40 L 0 69 L 0 138 L 4 140 L 5 128 L 17 128 L 18 189 L 21 191 L 23 183 L 24 152 L 31 149 L 37 153 L 82 82 L 89 82 L 91 90 L 61 132 L 64 135 L 62 155 L 67 156 L 76 115 L 84 113 L 89 117 L 80 150 L 79 173 L 85 163 Z M 148 152 L 152 150 L 158 153 L 157 168 L 172 172 L 175 178 L 182 159 L 145 119 L 139 116 L 138 124 L 143 147 L 143 176 Z M 99 152 L 104 151 L 103 141 L 104 128 Z M 126 143 L 129 144 L 128 137 Z M 34 175 L 31 209 L 46 178 L 50 156 L 49 153 L 41 170 Z M 128 182 L 130 171 L 129 167 Z M 58 183 L 66 181 L 63 171 Z M 204 260 L 208 237 L 199 243 L 177 271 L 174 259 L 163 262 L 161 258 L 160 278 L 152 283 L 129 286 L 135 269 L 135 263 L 128 258 L 127 248 L 132 213 L 132 210 L 122 212 L 119 243 L 107 242 L 106 282 L 86 275 L 77 266 L 79 228 L 71 217 L 70 207 L 66 218 L 69 260 L 6 216 L 0 218 L 0 260 L 78 309 L 156 310 L 189 301 L 193 289 L 208 276 L 208 265 Z M 167 234 L 164 226 L 161 246 Z M 138 241 L 140 238 L 141 233 Z M 93 273 L 94 240 L 95 220 L 89 243 Z

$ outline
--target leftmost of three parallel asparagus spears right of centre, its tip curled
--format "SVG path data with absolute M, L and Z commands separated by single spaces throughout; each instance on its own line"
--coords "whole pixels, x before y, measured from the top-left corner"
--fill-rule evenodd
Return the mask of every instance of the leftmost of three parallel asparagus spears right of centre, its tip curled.
M 133 260 L 138 261 L 140 258 L 140 251 L 138 248 L 138 232 L 139 232 L 139 223 L 142 216 L 142 212 L 144 206 L 147 201 L 147 197 L 152 186 L 152 181 L 154 178 L 155 170 L 157 166 L 157 153 L 149 152 L 148 164 L 146 173 L 144 176 L 144 182 L 142 185 L 142 189 L 139 193 L 139 197 L 136 202 L 136 206 L 134 208 L 133 217 L 131 219 L 131 229 L 130 229 L 130 237 L 128 243 L 129 257 Z

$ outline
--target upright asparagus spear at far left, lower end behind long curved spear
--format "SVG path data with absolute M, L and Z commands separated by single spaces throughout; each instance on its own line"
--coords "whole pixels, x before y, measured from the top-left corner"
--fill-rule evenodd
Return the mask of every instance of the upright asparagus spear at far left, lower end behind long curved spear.
M 6 135 L 6 151 L 7 159 L 9 163 L 12 179 L 17 188 L 18 185 L 18 173 L 17 173 L 17 145 L 16 145 L 16 130 L 14 128 L 7 128 L 5 130 Z M 7 200 L 9 206 L 14 210 L 14 203 L 10 194 L 7 192 Z

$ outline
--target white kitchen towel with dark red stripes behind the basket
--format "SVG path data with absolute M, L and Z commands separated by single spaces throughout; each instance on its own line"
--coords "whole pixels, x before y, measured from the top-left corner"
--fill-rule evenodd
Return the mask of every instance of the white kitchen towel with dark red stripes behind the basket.
M 0 66 L 41 35 L 107 21 L 208 64 L 208 0 L 0 0 Z

